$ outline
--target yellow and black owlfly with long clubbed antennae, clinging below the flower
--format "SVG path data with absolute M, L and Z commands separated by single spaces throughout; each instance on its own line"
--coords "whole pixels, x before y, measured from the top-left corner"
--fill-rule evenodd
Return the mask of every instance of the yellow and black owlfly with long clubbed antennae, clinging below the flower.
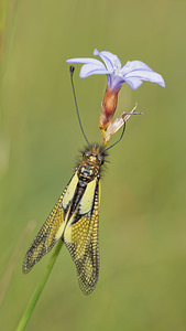
M 26 252 L 22 270 L 24 274 L 29 273 L 55 243 L 62 239 L 76 265 L 80 289 L 85 295 L 89 295 L 95 289 L 99 276 L 98 216 L 101 168 L 107 158 L 107 150 L 121 140 L 125 126 L 120 139 L 107 149 L 88 142 L 77 108 L 73 71 L 72 68 L 76 110 L 88 147 L 83 152 L 74 175 Z

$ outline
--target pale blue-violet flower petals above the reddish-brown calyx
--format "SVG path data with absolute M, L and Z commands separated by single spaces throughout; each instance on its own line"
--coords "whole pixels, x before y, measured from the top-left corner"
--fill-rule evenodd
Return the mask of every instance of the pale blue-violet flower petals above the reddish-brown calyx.
M 109 89 L 119 90 L 124 82 L 133 89 L 136 89 L 143 83 L 142 81 L 152 82 L 165 87 L 163 77 L 141 61 L 128 61 L 122 67 L 118 56 L 110 52 L 98 52 L 98 50 L 95 50 L 94 55 L 100 56 L 105 65 L 99 60 L 89 57 L 70 58 L 66 62 L 84 63 L 79 74 L 81 78 L 96 74 L 106 74 Z

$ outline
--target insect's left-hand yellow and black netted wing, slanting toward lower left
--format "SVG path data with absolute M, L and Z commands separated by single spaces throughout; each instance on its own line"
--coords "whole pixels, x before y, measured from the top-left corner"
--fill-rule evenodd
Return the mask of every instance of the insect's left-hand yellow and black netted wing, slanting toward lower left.
M 32 242 L 25 254 L 22 270 L 29 273 L 32 267 L 51 250 L 54 244 L 62 237 L 65 227 L 65 213 L 74 197 L 78 183 L 77 171 L 70 179 L 66 189 L 58 199 L 56 205 Z

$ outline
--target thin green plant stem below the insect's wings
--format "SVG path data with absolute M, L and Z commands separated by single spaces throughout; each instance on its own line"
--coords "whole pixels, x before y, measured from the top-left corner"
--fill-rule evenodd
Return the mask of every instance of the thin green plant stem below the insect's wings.
M 42 292 L 42 290 L 43 290 L 43 288 L 44 288 L 44 286 L 46 284 L 46 280 L 47 280 L 47 278 L 48 278 L 48 276 L 50 276 L 50 274 L 52 271 L 52 268 L 53 268 L 53 266 L 54 266 L 54 264 L 56 261 L 56 258 L 57 258 L 58 253 L 59 253 L 59 250 L 62 248 L 62 245 L 63 245 L 63 242 L 59 241 L 57 243 L 57 246 L 55 248 L 54 254 L 52 255 L 52 257 L 50 259 L 50 263 L 47 265 L 46 271 L 45 271 L 45 274 L 44 274 L 44 276 L 43 276 L 43 278 L 42 278 L 42 280 L 41 280 L 41 282 L 40 282 L 40 285 L 39 285 L 39 287 L 37 287 L 37 289 L 35 291 L 35 293 L 33 295 L 33 297 L 32 297 L 32 299 L 31 299 L 28 308 L 25 309 L 25 311 L 24 311 L 24 313 L 22 316 L 22 319 L 21 319 L 21 321 L 20 321 L 20 323 L 19 323 L 19 325 L 17 328 L 17 331 L 24 330 L 24 328 L 25 328 L 25 325 L 26 325 L 26 323 L 28 323 L 28 321 L 29 321 L 29 319 L 30 319 L 30 317 L 31 317 L 31 314 L 32 314 L 32 312 L 34 310 L 34 307 L 35 307 L 35 305 L 36 305 L 36 302 L 37 302 L 37 300 L 39 300 L 39 298 L 41 296 L 41 292 Z

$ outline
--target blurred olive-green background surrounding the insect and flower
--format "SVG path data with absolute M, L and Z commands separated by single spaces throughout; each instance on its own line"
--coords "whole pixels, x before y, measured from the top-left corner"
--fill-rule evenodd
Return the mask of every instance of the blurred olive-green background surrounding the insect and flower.
M 163 75 L 166 88 L 143 83 L 132 90 L 125 84 L 120 92 L 118 115 L 135 102 L 144 115 L 129 120 L 122 142 L 110 150 L 96 290 L 81 295 L 63 247 L 26 330 L 186 330 L 186 2 L 3 3 L 0 329 L 15 329 L 45 271 L 50 254 L 28 275 L 22 259 L 85 146 L 65 60 L 92 57 L 97 47 L 117 54 L 122 64 L 145 62 Z M 83 125 L 90 141 L 101 142 L 107 78 L 80 79 L 79 68 L 75 84 Z

